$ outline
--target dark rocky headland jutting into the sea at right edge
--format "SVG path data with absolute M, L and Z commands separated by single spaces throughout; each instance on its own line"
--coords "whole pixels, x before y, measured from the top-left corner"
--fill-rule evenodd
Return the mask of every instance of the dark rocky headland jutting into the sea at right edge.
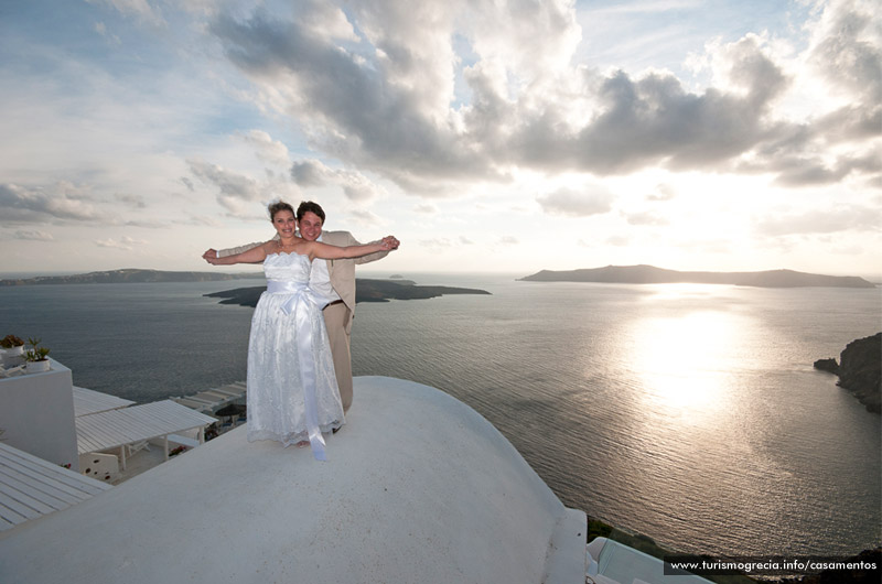
M 849 390 L 871 412 L 882 413 L 882 333 L 852 340 L 836 358 L 815 361 L 815 369 L 839 376 L 837 386 Z

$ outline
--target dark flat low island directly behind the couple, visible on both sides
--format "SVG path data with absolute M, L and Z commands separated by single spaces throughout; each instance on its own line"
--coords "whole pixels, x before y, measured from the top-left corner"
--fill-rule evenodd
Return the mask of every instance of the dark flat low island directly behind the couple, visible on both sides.
M 220 298 L 220 304 L 239 306 L 257 306 L 260 294 L 267 286 L 237 288 L 223 292 L 203 294 L 208 298 Z M 486 290 L 473 288 L 453 288 L 445 285 L 417 285 L 412 280 L 370 280 L 355 279 L 355 302 L 389 302 L 389 300 L 424 300 L 444 294 L 490 294 Z

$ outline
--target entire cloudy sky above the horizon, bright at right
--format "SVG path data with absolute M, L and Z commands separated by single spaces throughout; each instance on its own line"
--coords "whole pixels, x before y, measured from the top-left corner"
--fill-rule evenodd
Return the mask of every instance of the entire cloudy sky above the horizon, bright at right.
M 235 271 L 282 199 L 391 273 L 882 279 L 875 0 L 0 0 L 0 87 L 2 273 Z

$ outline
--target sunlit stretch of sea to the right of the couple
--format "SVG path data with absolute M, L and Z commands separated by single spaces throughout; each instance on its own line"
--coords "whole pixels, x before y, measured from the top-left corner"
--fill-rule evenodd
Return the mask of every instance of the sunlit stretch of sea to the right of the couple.
M 879 417 L 811 368 L 874 332 L 878 291 L 490 290 L 359 307 L 354 367 L 462 399 L 564 504 L 674 548 L 846 553 L 879 539 Z

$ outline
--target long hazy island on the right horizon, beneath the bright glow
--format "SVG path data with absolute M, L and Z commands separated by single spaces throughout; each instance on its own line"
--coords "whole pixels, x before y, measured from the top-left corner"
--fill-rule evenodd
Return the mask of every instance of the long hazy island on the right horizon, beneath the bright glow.
M 856 275 L 821 275 L 793 270 L 763 272 L 679 272 L 654 266 L 606 266 L 582 270 L 542 270 L 518 278 L 527 282 L 605 282 L 615 284 L 730 284 L 757 288 L 875 288 Z

